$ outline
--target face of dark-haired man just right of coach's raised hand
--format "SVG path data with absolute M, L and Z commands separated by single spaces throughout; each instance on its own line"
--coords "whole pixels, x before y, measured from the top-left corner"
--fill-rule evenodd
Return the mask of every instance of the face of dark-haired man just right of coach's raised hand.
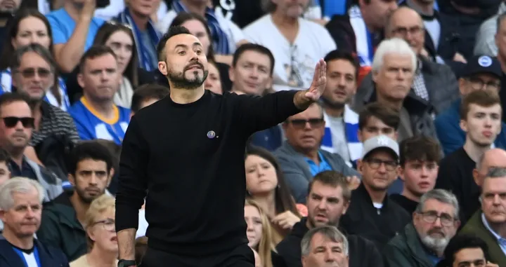
M 327 86 L 323 92 L 325 104 L 344 107 L 356 93 L 356 69 L 348 60 L 327 62 Z

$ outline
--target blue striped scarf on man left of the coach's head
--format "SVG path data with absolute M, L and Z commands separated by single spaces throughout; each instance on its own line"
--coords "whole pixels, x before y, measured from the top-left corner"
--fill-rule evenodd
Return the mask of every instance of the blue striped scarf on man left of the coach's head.
M 148 50 L 145 49 L 145 46 L 155 46 L 156 51 L 156 46 L 160 41 L 161 34 L 155 29 L 155 25 L 153 25 L 153 22 L 149 20 L 147 27 L 151 43 L 143 43 L 141 30 L 138 29 L 137 25 L 134 22 L 134 19 L 131 18 L 130 11 L 128 8 L 125 8 L 125 10 L 122 13 L 119 13 L 117 21 L 122 22 L 126 25 L 130 25 L 132 31 L 134 32 L 134 41 L 136 43 L 137 48 L 139 67 L 145 69 L 146 71 L 153 71 L 153 69 L 155 69 L 155 66 L 153 66 L 153 62 L 157 62 L 157 60 L 151 57 L 150 53 L 148 53 Z

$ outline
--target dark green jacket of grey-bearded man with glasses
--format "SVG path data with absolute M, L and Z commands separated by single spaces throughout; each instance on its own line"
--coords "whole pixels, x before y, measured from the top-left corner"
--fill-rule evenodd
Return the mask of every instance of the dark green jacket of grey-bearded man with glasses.
M 434 267 L 413 223 L 406 225 L 401 233 L 388 242 L 383 256 L 386 267 Z

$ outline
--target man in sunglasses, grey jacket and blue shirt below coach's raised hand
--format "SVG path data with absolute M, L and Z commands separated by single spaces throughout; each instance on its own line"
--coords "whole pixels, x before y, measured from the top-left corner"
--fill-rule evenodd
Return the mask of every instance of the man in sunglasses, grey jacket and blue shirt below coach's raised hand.
M 306 203 L 309 183 L 319 172 L 334 170 L 349 179 L 360 176 L 341 156 L 320 149 L 325 131 L 320 104 L 312 104 L 305 111 L 287 118 L 283 130 L 287 140 L 276 149 L 275 156 L 297 203 Z

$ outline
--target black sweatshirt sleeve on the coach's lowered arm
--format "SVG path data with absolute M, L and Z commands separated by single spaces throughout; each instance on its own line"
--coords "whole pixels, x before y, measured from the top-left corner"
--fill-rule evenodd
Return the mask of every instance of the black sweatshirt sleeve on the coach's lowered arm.
M 116 231 L 138 228 L 138 211 L 146 195 L 148 143 L 142 136 L 136 116 L 126 129 L 119 158 L 119 179 L 116 193 Z

